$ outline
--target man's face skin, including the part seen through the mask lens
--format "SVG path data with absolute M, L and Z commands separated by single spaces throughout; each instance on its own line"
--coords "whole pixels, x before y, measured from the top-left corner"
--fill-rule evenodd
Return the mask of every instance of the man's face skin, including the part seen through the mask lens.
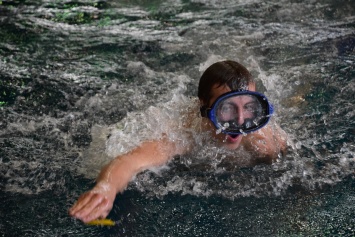
M 250 84 L 249 90 L 255 91 L 255 85 Z M 231 90 L 228 86 L 213 86 L 211 90 L 212 96 L 208 103 L 208 106 L 211 107 L 220 95 L 230 91 Z M 218 113 L 221 113 L 221 118 L 224 118 L 226 121 L 235 119 L 238 124 L 243 124 L 245 119 L 254 116 L 252 112 L 253 99 L 251 97 L 240 96 L 237 98 L 230 98 L 226 102 L 227 103 L 224 103 L 223 106 L 218 109 Z M 209 129 L 213 130 L 215 138 L 220 142 L 222 146 L 232 150 L 239 147 L 243 135 L 228 135 L 223 133 L 216 134 L 216 128 L 214 127 L 213 123 L 209 119 L 208 121 Z

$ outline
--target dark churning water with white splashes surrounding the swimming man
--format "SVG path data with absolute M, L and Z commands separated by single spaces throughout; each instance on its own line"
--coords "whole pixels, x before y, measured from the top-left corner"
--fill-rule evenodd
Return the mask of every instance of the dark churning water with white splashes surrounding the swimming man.
M 352 0 L 0 1 L 0 235 L 355 236 L 354 13 Z M 145 128 L 122 151 L 151 136 L 135 118 L 172 114 L 222 59 L 274 104 L 286 157 L 221 171 L 206 148 L 137 175 L 116 226 L 69 217 L 110 159 L 108 129 Z

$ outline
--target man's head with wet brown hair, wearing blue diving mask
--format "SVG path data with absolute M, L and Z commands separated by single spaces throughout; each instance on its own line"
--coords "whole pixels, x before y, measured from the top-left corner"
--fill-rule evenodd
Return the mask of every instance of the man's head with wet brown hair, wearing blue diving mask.
M 215 129 L 214 137 L 229 149 L 241 143 L 241 134 L 265 126 L 273 113 L 267 98 L 255 92 L 250 72 L 234 61 L 211 65 L 203 73 L 198 88 L 201 116 Z M 213 128 L 214 127 L 214 128 Z

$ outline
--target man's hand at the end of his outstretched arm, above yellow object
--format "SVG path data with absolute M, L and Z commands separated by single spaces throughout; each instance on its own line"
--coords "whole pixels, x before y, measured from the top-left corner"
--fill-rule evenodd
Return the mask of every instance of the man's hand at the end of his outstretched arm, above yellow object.
M 99 182 L 92 190 L 79 197 L 70 208 L 69 214 L 83 222 L 105 218 L 112 209 L 115 197 L 113 187 L 106 182 Z

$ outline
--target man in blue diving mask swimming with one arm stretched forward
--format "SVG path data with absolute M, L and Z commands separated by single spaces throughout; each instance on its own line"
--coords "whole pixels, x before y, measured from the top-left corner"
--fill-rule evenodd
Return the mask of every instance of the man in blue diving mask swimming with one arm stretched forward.
M 253 157 L 251 164 L 270 164 L 286 152 L 285 133 L 269 124 L 272 105 L 256 92 L 251 74 L 241 64 L 227 60 L 207 68 L 200 78 L 198 97 L 202 129 L 211 131 L 218 146 L 228 150 L 242 147 Z M 94 188 L 79 197 L 69 214 L 85 223 L 105 218 L 116 194 L 123 192 L 137 173 L 161 166 L 189 150 L 164 136 L 143 142 L 106 165 Z

